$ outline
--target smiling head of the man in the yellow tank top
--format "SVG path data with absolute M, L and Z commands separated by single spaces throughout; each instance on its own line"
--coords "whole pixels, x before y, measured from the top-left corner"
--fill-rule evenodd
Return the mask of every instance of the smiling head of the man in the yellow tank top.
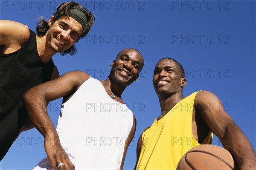
M 174 61 L 163 59 L 154 69 L 153 85 L 159 97 L 170 97 L 182 91 L 186 79 L 180 77 L 180 70 Z

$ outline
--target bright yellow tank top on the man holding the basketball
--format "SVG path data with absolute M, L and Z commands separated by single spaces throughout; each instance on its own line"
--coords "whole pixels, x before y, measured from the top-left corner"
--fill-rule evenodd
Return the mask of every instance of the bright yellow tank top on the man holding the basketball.
M 197 93 L 183 98 L 163 118 L 155 119 L 143 131 L 137 170 L 176 170 L 180 158 L 200 145 L 192 134 L 192 112 Z M 202 144 L 212 144 L 212 132 Z

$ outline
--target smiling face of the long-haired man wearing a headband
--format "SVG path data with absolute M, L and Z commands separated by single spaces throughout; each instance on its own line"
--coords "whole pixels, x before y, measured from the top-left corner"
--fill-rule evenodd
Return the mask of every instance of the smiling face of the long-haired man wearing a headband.
M 46 34 L 46 41 L 54 52 L 69 49 L 83 31 L 81 24 L 68 16 L 61 16 L 55 22 L 52 16 L 48 24 L 50 28 Z

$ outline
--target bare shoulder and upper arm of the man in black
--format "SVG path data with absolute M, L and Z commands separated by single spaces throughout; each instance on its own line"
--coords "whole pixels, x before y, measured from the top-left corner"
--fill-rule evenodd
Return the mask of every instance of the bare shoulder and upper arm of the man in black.
M 22 23 L 0 20 L 1 54 L 17 51 L 29 39 L 29 28 Z

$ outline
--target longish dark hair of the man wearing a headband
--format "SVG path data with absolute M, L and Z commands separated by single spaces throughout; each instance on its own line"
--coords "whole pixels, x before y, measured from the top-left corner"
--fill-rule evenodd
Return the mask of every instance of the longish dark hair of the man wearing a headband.
M 66 3 L 61 3 L 58 6 L 55 13 L 53 13 L 53 15 L 54 15 L 53 22 L 55 22 L 61 16 L 64 16 L 64 15 L 69 16 L 69 10 L 73 6 L 79 6 L 79 7 L 81 7 L 81 9 L 84 8 L 83 6 L 81 6 L 81 4 L 73 2 L 73 1 L 66 2 Z M 55 14 L 57 12 L 60 12 L 60 14 L 58 14 L 58 16 L 55 16 Z M 85 35 L 88 34 L 88 32 L 90 31 L 90 27 L 93 25 L 93 23 L 95 21 L 95 16 L 90 11 L 86 10 L 85 16 L 87 18 L 87 24 L 86 24 L 83 32 L 81 33 L 80 37 L 76 40 L 76 42 L 78 42 L 79 39 L 85 37 Z M 45 20 L 44 17 L 39 17 L 38 18 L 38 23 L 37 23 L 37 27 L 36 27 L 37 35 L 39 35 L 39 36 L 46 35 L 47 31 L 50 28 L 49 25 L 48 25 L 48 22 L 49 21 Z M 76 47 L 73 45 L 69 49 L 66 49 L 66 50 L 60 52 L 61 55 L 66 55 L 67 53 L 69 53 L 70 55 L 76 54 Z

